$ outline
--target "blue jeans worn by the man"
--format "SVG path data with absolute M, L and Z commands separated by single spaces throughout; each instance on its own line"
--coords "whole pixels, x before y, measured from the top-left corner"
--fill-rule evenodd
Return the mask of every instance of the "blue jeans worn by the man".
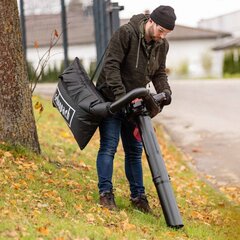
M 142 143 L 133 136 L 135 124 L 129 122 L 123 113 L 107 117 L 99 126 L 100 149 L 97 156 L 99 193 L 112 191 L 113 160 L 121 135 L 125 152 L 125 174 L 131 197 L 143 194 Z

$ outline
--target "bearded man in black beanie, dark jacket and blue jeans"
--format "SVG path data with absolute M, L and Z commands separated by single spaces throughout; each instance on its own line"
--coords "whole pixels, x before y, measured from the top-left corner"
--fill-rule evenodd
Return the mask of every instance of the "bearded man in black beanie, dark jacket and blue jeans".
M 176 16 L 170 6 L 159 6 L 151 14 L 134 15 L 112 36 L 97 89 L 108 101 L 116 101 L 132 89 L 152 81 L 156 92 L 165 92 L 165 104 L 171 102 L 171 89 L 166 75 L 168 42 L 165 39 L 175 26 Z M 99 126 L 100 149 L 97 156 L 100 204 L 116 209 L 113 194 L 113 160 L 121 135 L 125 152 L 125 173 L 134 207 L 151 212 L 145 195 L 142 173 L 142 143 L 133 136 L 134 124 L 123 112 L 107 117 Z

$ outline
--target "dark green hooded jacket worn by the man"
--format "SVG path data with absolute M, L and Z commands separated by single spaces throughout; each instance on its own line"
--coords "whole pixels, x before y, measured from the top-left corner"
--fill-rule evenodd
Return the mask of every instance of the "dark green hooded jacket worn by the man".
M 150 81 L 157 93 L 171 94 L 165 72 L 169 45 L 163 39 L 153 42 L 151 51 L 147 51 L 144 41 L 147 19 L 144 14 L 134 15 L 110 40 L 96 84 L 108 100 L 117 100 L 132 89 L 146 87 Z

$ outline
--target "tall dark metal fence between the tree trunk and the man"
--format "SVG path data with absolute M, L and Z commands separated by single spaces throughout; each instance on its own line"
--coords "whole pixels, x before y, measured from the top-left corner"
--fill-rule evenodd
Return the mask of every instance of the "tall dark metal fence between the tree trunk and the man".
M 34 66 L 51 49 L 49 65 L 79 57 L 86 68 L 100 61 L 119 27 L 118 3 L 110 0 L 19 0 L 23 46 Z

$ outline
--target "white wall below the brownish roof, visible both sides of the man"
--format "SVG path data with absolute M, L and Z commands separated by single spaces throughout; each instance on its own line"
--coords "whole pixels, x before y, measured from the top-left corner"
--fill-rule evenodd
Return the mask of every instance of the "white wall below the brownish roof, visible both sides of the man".
M 212 59 L 212 72 L 211 76 L 220 77 L 222 69 L 223 56 L 221 51 L 212 51 L 211 48 L 215 45 L 215 40 L 191 40 L 191 41 L 170 41 L 170 48 L 167 57 L 167 68 L 170 68 L 171 74 L 169 77 L 179 78 L 176 75 L 176 71 L 179 66 L 187 61 L 189 64 L 189 76 L 188 77 L 205 77 L 206 72 L 202 68 L 202 55 L 210 54 Z M 34 48 L 27 50 L 28 61 L 37 66 L 39 57 L 47 51 L 47 48 L 40 48 L 38 52 Z M 95 44 L 86 44 L 79 46 L 69 47 L 69 59 L 73 60 L 75 57 L 83 60 L 83 65 L 86 71 L 89 69 L 91 61 L 96 59 L 96 47 Z M 51 51 L 51 57 L 48 62 L 48 66 L 61 64 L 64 58 L 63 49 L 61 47 L 54 47 Z M 207 76 L 208 77 L 208 76 Z

